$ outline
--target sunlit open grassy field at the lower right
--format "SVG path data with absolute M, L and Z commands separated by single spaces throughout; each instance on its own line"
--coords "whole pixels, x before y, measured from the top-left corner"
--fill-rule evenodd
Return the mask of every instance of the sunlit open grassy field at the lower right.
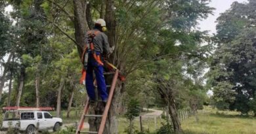
M 240 116 L 240 112 L 200 110 L 200 121 L 194 117 L 182 122 L 182 129 L 188 134 L 256 134 L 256 118 Z

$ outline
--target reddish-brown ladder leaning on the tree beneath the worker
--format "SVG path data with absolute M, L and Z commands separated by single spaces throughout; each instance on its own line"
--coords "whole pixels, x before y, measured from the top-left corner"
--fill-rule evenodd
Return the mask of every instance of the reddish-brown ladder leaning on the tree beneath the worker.
M 118 73 L 119 71 L 116 69 L 116 71 L 114 73 L 106 73 L 105 75 L 111 75 L 114 74 L 114 78 L 112 80 L 112 84 L 110 86 L 110 92 L 108 94 L 108 101 L 106 103 L 106 107 L 104 109 L 104 112 L 102 115 L 90 115 L 87 114 L 90 108 L 90 103 L 89 103 L 89 99 L 87 99 L 86 105 L 85 105 L 85 109 L 83 110 L 83 114 L 81 116 L 81 120 L 79 122 L 79 125 L 77 127 L 77 130 L 75 132 L 75 134 L 80 134 L 80 133 L 97 133 L 97 134 L 102 134 L 104 131 L 104 127 L 106 124 L 106 118 L 108 116 L 108 110 L 110 109 L 110 104 L 113 98 L 113 94 L 114 94 L 114 90 L 116 88 L 116 82 L 117 82 L 117 78 L 118 78 Z M 91 117 L 96 117 L 96 118 L 102 118 L 101 122 L 100 122 L 100 127 L 98 129 L 98 131 L 81 131 L 81 129 L 83 128 L 83 122 L 85 120 L 85 118 L 91 118 Z

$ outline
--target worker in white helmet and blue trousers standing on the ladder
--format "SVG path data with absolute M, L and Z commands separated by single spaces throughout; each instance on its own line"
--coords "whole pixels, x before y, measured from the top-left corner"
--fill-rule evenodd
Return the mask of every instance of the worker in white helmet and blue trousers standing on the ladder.
M 108 43 L 108 37 L 105 33 L 103 33 L 104 31 L 106 31 L 106 22 L 103 19 L 98 19 L 95 22 L 94 29 L 89 31 L 85 38 L 85 42 L 87 42 L 87 44 L 93 45 L 89 46 L 91 50 L 88 51 L 88 61 L 86 63 L 87 65 L 85 65 L 85 67 L 87 67 L 85 86 L 87 94 L 89 95 L 90 103 L 94 103 L 96 101 L 95 86 L 93 83 L 94 72 L 98 92 L 100 93 L 102 101 L 106 105 L 108 93 L 106 91 L 106 82 L 103 75 L 104 68 L 102 57 L 108 57 L 113 52 L 113 50 L 112 48 L 110 48 L 110 44 Z M 92 35 L 93 37 L 91 37 Z

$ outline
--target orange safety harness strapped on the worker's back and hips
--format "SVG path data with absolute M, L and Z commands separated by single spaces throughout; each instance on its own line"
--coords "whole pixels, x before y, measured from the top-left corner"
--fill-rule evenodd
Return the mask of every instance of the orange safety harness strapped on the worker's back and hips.
M 87 65 L 88 65 L 88 59 L 89 59 L 89 53 L 93 54 L 93 58 L 95 58 L 95 61 L 100 64 L 104 65 L 104 63 L 101 61 L 100 55 L 97 55 L 95 52 L 95 46 L 93 44 L 93 39 L 100 33 L 100 31 L 88 31 L 88 41 L 86 42 L 84 48 L 83 48 L 83 55 L 81 58 L 81 61 L 83 63 L 83 69 L 82 69 L 82 76 L 80 78 L 80 84 L 83 84 L 83 80 L 85 80 L 86 71 L 87 71 Z

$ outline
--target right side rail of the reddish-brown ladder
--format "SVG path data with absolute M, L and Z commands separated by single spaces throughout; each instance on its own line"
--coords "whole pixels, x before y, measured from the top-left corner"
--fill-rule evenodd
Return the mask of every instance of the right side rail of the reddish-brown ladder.
M 108 101 L 106 103 L 106 107 L 105 107 L 103 115 L 102 115 L 102 120 L 101 120 L 101 123 L 100 123 L 100 128 L 98 129 L 98 134 L 102 134 L 103 131 L 104 131 L 104 127 L 105 127 L 105 124 L 106 124 L 106 118 L 108 116 L 108 110 L 110 109 L 110 104 L 111 104 L 111 101 L 112 101 L 114 90 L 116 88 L 116 82 L 117 82 L 117 78 L 118 78 L 118 73 L 119 72 L 116 69 L 116 73 L 115 73 L 114 78 L 112 80 L 112 84 L 111 84 L 111 88 L 110 88 L 110 93 L 108 95 Z

